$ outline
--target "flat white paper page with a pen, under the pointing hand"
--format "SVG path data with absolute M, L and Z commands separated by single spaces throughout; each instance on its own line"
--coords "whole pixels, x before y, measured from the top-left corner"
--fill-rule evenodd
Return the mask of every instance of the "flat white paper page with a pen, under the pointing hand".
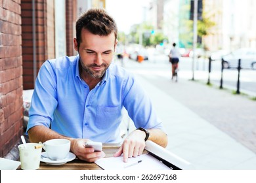
M 137 163 L 140 160 L 141 162 Z M 102 158 L 95 161 L 95 163 L 104 170 L 171 170 L 150 154 L 142 154 L 136 158 L 129 158 L 127 163 L 123 162 L 123 156 Z M 136 164 L 127 167 L 127 165 L 133 163 Z

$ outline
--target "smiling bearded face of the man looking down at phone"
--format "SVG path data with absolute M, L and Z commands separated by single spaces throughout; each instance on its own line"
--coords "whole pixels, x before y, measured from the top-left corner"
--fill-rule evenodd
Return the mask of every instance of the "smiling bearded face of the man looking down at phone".
M 116 44 L 114 32 L 108 36 L 100 36 L 82 29 L 79 48 L 74 38 L 74 48 L 79 52 L 82 73 L 91 78 L 101 78 L 110 66 Z

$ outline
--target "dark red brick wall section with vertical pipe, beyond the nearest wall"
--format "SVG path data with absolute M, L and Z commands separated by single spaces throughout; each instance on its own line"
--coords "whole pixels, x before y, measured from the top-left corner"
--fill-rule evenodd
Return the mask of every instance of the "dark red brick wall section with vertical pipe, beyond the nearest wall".
M 33 89 L 33 11 L 32 0 L 21 0 L 22 56 L 24 90 Z M 53 12 L 52 12 L 53 13 Z M 49 31 L 49 30 L 48 30 Z M 54 29 L 52 29 L 54 32 Z M 52 49 L 52 48 L 50 48 Z M 47 1 L 35 0 L 35 69 L 48 59 L 47 47 Z

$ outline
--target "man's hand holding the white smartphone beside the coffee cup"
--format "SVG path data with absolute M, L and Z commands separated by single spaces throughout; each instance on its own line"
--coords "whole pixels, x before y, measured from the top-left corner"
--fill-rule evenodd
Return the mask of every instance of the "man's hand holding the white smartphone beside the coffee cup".
M 85 147 L 85 142 L 90 141 L 88 139 L 72 139 L 71 140 L 71 151 L 77 156 L 77 158 L 87 161 L 94 162 L 97 159 L 103 158 L 106 154 L 103 151 L 95 152 L 93 148 Z

